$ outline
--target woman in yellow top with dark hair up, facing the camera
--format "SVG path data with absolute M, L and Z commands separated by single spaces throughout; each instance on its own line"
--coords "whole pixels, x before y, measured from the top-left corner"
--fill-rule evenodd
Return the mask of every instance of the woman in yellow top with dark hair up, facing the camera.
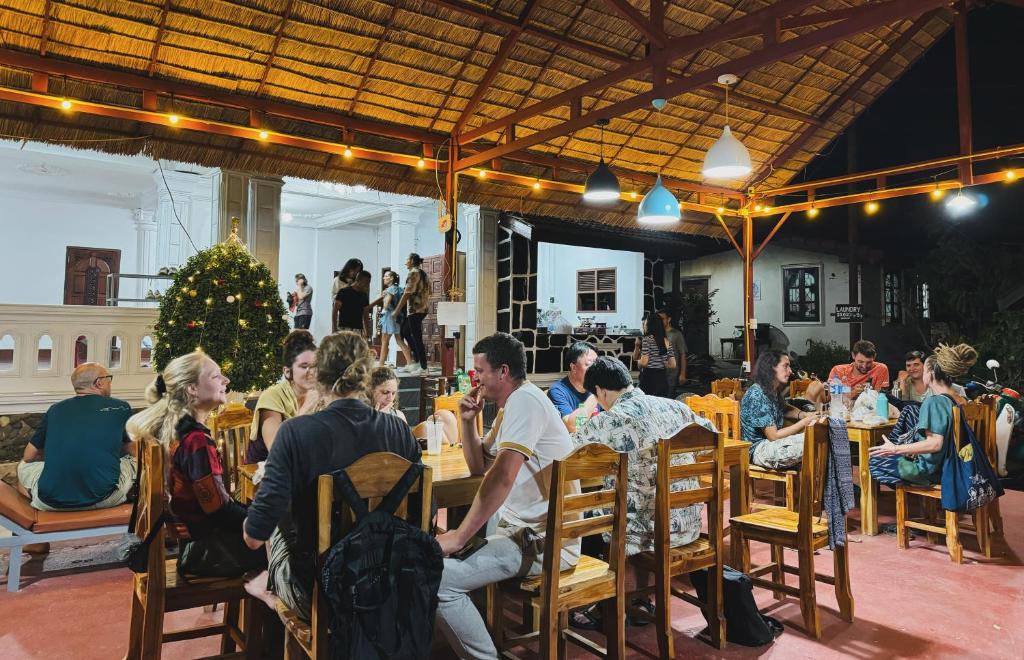
M 297 329 L 285 338 L 285 380 L 263 390 L 253 412 L 253 426 L 246 447 L 246 463 L 266 460 L 278 429 L 285 420 L 312 409 L 316 403 L 316 344 L 309 331 Z

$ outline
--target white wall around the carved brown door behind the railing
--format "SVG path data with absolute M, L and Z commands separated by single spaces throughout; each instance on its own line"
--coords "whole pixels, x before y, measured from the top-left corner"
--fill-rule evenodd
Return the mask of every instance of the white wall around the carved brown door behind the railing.
M 69 246 L 120 250 L 123 273 L 135 272 L 137 265 L 134 220 L 127 209 L 3 194 L 0 235 L 0 303 L 62 305 Z

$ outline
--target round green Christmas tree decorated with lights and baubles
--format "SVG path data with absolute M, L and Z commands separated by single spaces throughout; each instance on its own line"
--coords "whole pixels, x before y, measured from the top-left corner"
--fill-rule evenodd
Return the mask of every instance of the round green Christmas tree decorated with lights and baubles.
M 287 335 L 278 282 L 249 254 L 236 225 L 227 240 L 191 257 L 164 293 L 154 360 L 163 369 L 175 357 L 201 349 L 220 364 L 231 390 L 248 392 L 281 377 Z

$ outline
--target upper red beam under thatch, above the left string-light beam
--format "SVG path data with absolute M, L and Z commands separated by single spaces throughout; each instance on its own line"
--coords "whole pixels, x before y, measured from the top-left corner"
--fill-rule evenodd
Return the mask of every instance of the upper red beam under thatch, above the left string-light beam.
M 39 57 L 27 53 L 0 48 L 0 65 L 14 67 L 28 71 L 62 76 L 77 80 L 85 80 L 116 87 L 125 87 L 156 94 L 172 94 L 177 98 L 191 99 L 212 105 L 237 107 L 242 109 L 257 109 L 266 115 L 284 117 L 300 122 L 321 124 L 335 128 L 343 128 L 357 133 L 369 133 L 397 140 L 441 144 L 447 141 L 447 135 L 431 133 L 411 126 L 395 126 L 383 122 L 346 117 L 337 113 L 329 113 L 302 105 L 284 103 L 281 101 L 257 98 L 246 94 L 236 94 L 221 90 L 209 89 L 198 85 L 189 85 L 160 78 L 146 78 L 137 74 L 129 74 L 114 70 L 89 67 L 75 62 Z

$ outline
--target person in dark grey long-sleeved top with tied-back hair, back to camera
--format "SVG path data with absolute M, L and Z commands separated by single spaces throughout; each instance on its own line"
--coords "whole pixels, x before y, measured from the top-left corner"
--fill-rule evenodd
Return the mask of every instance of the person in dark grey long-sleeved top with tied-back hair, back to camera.
M 343 470 L 375 451 L 421 463 L 420 446 L 409 425 L 367 405 L 373 359 L 367 341 L 356 333 L 343 331 L 321 341 L 316 384 L 327 405 L 281 425 L 266 474 L 246 518 L 249 547 L 256 549 L 270 541 L 265 579 L 257 577 L 246 588 L 271 607 L 280 599 L 306 621 L 316 575 L 319 476 Z M 415 511 L 414 504 L 410 509 Z

